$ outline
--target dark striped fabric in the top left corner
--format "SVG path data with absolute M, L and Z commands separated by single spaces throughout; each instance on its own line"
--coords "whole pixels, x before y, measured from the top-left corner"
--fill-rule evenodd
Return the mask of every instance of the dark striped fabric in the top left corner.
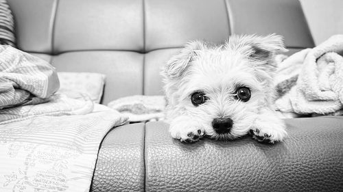
M 6 0 L 0 0 L 0 44 L 15 46 L 14 19 Z

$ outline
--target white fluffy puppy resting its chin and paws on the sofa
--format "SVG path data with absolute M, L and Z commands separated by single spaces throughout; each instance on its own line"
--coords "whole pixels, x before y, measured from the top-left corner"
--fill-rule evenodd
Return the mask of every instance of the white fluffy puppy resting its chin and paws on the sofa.
M 171 136 L 193 142 L 207 135 L 282 141 L 284 122 L 272 108 L 274 55 L 287 51 L 274 34 L 230 36 L 220 46 L 189 42 L 163 68 Z

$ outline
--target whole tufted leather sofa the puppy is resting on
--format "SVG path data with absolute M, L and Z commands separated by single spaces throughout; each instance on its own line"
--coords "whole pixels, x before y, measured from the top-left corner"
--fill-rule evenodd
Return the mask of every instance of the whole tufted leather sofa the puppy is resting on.
M 296 0 L 8 0 L 19 49 L 58 71 L 106 74 L 102 103 L 163 94 L 159 70 L 185 42 L 277 33 L 313 47 Z M 91 191 L 342 191 L 343 117 L 286 120 L 289 137 L 180 143 L 164 122 L 113 128 Z

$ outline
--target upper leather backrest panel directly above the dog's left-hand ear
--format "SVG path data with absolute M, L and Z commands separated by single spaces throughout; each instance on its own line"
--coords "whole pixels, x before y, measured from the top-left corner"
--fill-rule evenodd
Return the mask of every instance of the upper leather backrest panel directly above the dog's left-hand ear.
M 224 1 L 145 0 L 145 50 L 183 46 L 206 39 L 223 42 L 229 36 Z

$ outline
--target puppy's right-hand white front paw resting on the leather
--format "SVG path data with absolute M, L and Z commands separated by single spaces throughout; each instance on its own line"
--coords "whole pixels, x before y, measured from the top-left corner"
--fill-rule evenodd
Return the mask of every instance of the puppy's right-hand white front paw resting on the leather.
M 287 136 L 285 131 L 285 124 L 280 121 L 279 123 L 270 122 L 268 123 L 259 123 L 255 126 L 252 126 L 250 130 L 252 138 L 257 141 L 274 143 L 276 141 L 283 141 Z

